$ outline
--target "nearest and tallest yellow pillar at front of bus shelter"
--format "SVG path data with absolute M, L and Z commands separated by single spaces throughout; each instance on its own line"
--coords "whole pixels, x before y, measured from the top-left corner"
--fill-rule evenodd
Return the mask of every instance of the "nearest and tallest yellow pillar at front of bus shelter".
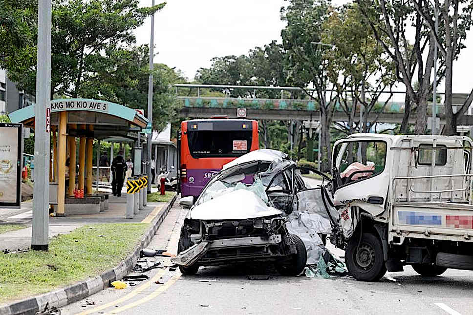
M 58 210 L 57 214 L 64 215 L 64 197 L 65 197 L 65 147 L 66 147 L 66 126 L 67 114 L 65 111 L 59 113 L 59 130 L 58 130 Z

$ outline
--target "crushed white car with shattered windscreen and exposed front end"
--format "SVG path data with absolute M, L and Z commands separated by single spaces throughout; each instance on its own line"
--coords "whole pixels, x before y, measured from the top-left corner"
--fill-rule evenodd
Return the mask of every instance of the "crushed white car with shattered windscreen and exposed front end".
M 172 261 L 183 274 L 195 274 L 199 266 L 261 261 L 274 263 L 281 274 L 300 274 L 308 256 L 317 263 L 323 246 L 314 230 L 330 232 L 328 219 L 299 211 L 311 203 L 304 196 L 308 190 L 285 153 L 260 149 L 237 158 L 207 183 L 194 205 L 192 197 L 181 199 L 192 208 Z

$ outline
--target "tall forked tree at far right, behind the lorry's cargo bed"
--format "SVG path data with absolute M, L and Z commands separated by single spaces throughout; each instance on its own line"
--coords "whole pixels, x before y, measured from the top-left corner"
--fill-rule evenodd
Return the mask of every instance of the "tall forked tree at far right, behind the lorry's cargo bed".
M 473 23 L 473 2 L 462 0 L 445 0 L 441 3 L 435 0 L 435 8 L 439 13 L 439 30 L 435 32 L 435 21 L 433 10 L 430 10 L 429 0 L 412 1 L 417 14 L 428 26 L 430 36 L 433 39 L 431 45 L 437 45 L 441 57 L 445 63 L 445 127 L 443 134 L 455 135 L 456 125 L 459 117 L 465 114 L 473 101 L 473 88 L 469 96 L 457 110 L 452 109 L 452 82 L 453 82 L 453 61 L 458 57 L 460 50 L 465 47 L 462 43 L 466 39 L 466 31 Z M 461 12 L 460 4 L 465 3 Z

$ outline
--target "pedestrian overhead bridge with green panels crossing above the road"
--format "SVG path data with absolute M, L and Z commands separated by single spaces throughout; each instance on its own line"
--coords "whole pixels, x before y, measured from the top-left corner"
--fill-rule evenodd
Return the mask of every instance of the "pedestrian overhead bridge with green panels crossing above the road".
M 271 119 L 271 120 L 313 120 L 318 121 L 320 116 L 319 104 L 310 99 L 287 99 L 285 91 L 301 91 L 299 87 L 271 87 L 271 86 L 243 86 L 243 85 L 209 85 L 209 84 L 174 84 L 177 99 L 181 100 L 181 115 L 189 118 L 209 118 L 213 115 L 227 115 L 229 118 L 237 118 L 237 108 L 247 109 L 247 118 L 251 119 Z M 179 93 L 179 89 L 181 93 Z M 182 91 L 190 92 L 197 90 L 197 96 L 186 96 Z M 203 89 L 223 91 L 226 97 L 201 96 Z M 257 94 L 257 90 L 280 91 L 280 98 L 236 98 L 230 97 L 232 89 L 248 91 L 248 94 Z M 279 93 L 279 92 L 278 92 Z M 390 93 L 390 92 L 386 92 Z M 191 93 L 188 93 L 191 94 Z M 405 92 L 393 92 L 394 95 L 402 95 Z M 377 118 L 379 123 L 399 124 L 404 117 L 404 102 L 380 101 L 368 114 L 368 121 Z M 360 103 L 358 103 L 360 104 Z M 347 122 L 349 115 L 345 113 L 343 105 L 337 102 L 334 108 L 333 121 Z M 427 107 L 428 116 L 431 116 L 431 104 Z M 354 122 L 359 121 L 360 105 L 355 109 Z M 445 124 L 445 107 L 437 105 L 436 115 L 440 118 L 440 124 Z M 379 116 L 379 117 L 378 117 Z M 409 117 L 409 123 L 415 123 L 415 113 Z M 473 116 L 462 116 L 459 125 L 473 125 Z

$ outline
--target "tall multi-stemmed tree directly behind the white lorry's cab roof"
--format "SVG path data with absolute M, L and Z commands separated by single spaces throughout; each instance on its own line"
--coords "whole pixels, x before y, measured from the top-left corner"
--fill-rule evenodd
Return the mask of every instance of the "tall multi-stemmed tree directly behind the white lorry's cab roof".
M 422 2 L 423 0 L 417 0 Z M 386 0 L 374 2 L 358 0 L 364 21 L 370 26 L 376 39 L 395 64 L 397 79 L 406 86 L 405 117 L 403 129 L 407 129 L 411 102 L 416 105 L 415 133 L 425 134 L 427 126 L 427 99 L 432 88 L 430 74 L 433 67 L 433 42 L 426 26 L 410 2 Z M 378 4 L 379 3 L 379 4 Z M 382 21 L 381 23 L 379 21 Z M 415 30 L 414 42 L 407 39 L 408 22 Z M 386 39 L 383 38 L 386 34 Z M 427 49 L 427 57 L 425 50 Z M 424 61 L 425 58 L 425 61 Z M 414 89 L 414 75 L 419 89 Z

